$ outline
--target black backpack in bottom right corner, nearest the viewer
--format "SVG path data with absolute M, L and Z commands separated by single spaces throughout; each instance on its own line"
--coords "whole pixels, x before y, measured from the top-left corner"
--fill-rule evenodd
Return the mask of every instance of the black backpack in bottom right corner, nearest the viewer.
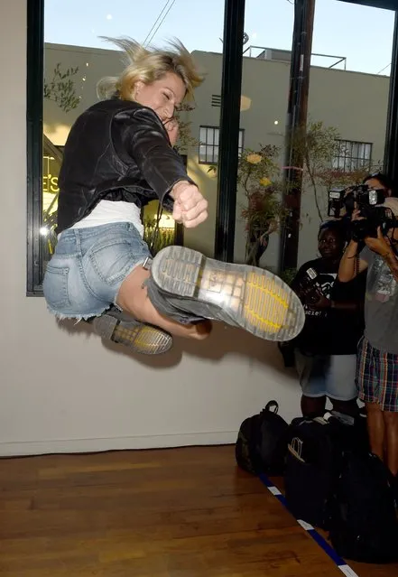
M 371 453 L 347 453 L 329 503 L 329 538 L 336 552 L 363 563 L 398 561 L 393 481 Z

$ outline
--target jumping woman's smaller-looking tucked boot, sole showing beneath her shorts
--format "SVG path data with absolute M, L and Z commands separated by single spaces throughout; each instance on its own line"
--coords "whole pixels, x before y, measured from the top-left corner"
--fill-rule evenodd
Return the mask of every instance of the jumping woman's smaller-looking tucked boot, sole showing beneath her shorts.
M 113 340 L 142 355 L 161 355 L 172 346 L 172 337 L 168 332 L 136 321 L 116 307 L 89 322 L 102 339 Z

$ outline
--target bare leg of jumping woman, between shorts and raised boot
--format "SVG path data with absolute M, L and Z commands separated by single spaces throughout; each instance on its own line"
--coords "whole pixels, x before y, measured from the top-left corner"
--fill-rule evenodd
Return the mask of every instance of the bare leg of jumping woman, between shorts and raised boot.
M 211 322 L 203 321 L 197 324 L 180 324 L 171 321 L 167 317 L 157 312 L 153 303 L 149 300 L 144 281 L 150 273 L 142 266 L 137 266 L 134 271 L 125 278 L 117 295 L 117 304 L 125 312 L 129 312 L 135 319 L 142 322 L 149 322 L 156 327 L 167 330 L 176 337 L 203 340 L 211 331 Z

